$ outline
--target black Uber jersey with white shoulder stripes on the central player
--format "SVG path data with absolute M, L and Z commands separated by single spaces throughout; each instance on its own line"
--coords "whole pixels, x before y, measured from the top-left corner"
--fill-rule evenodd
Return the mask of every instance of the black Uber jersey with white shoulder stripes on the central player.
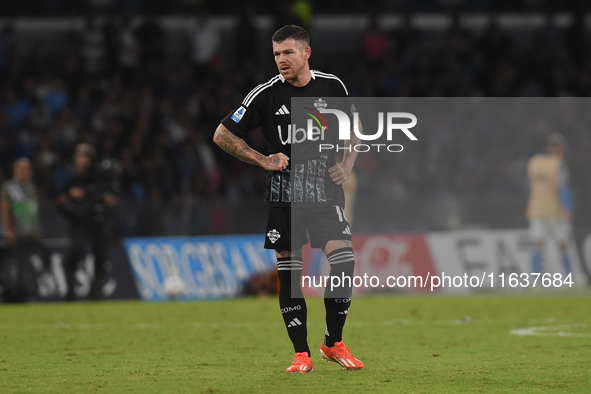
M 293 86 L 283 76 L 276 75 L 254 88 L 242 104 L 222 120 L 222 124 L 240 138 L 260 127 L 267 142 L 267 154 L 282 152 L 289 156 L 286 170 L 267 172 L 265 202 L 270 206 L 344 206 L 343 188 L 336 185 L 328 173 L 336 164 L 334 150 L 320 153 L 317 144 L 309 148 L 302 144 L 292 149 L 295 134 L 292 97 L 348 97 L 345 85 L 336 76 L 315 70 L 311 73 L 310 82 L 303 87 Z M 337 133 L 330 133 L 328 138 L 323 142 L 338 144 Z

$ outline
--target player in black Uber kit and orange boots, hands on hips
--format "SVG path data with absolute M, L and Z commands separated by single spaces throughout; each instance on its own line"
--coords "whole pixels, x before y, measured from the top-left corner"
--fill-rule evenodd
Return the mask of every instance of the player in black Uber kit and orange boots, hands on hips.
M 276 252 L 279 306 L 295 350 L 287 372 L 304 373 L 311 372 L 313 365 L 307 340 L 306 302 L 300 287 L 302 246 L 308 243 L 307 232 L 311 246 L 326 254 L 330 275 L 353 277 L 353 244 L 343 211 L 341 185 L 349 177 L 357 154 L 345 151 L 340 163 L 334 154 L 320 153 L 302 162 L 290 162 L 291 98 L 347 97 L 348 93 L 336 76 L 310 70 L 310 38 L 301 27 L 282 27 L 273 34 L 272 43 L 279 75 L 254 88 L 241 106 L 222 120 L 214 141 L 234 157 L 267 171 L 265 248 Z M 253 150 L 242 139 L 257 127 L 261 127 L 269 155 Z M 352 138 L 351 144 L 355 141 Z M 320 355 L 344 368 L 361 369 L 363 363 L 351 355 L 342 338 L 351 294 L 351 283 L 335 289 L 326 287 L 326 332 Z

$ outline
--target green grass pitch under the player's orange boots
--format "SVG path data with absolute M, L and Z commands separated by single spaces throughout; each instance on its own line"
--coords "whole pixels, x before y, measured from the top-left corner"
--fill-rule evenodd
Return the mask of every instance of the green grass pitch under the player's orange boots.
M 288 375 L 276 298 L 1 305 L 0 392 L 591 390 L 588 298 L 354 299 L 362 371 L 320 360 L 322 300 L 308 310 L 314 372 Z

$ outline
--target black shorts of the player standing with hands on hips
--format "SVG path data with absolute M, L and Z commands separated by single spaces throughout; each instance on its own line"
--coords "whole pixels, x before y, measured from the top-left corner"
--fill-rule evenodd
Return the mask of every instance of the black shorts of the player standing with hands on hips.
M 326 205 L 318 208 L 267 207 L 265 249 L 297 250 L 308 243 L 324 248 L 328 241 L 351 240 L 351 229 L 343 208 Z

